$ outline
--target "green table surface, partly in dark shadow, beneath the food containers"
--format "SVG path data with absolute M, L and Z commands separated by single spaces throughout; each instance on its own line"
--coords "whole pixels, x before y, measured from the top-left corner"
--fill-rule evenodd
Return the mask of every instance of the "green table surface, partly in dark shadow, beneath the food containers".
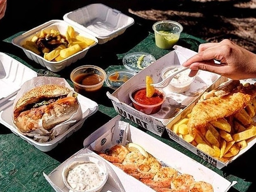
M 145 23 L 147 22 L 145 21 Z M 21 34 L 22 31 L 14 35 L 11 34 L 12 36 L 10 35 L 10 37 L 3 39 L 0 42 L 0 51 L 35 70 L 40 76 L 63 77 L 73 86 L 69 75 L 71 70 L 78 66 L 92 64 L 100 66 L 108 72 L 116 68 L 124 68 L 122 58 L 130 52 L 147 52 L 152 54 L 156 59 L 169 53 L 172 49 L 164 50 L 155 46 L 153 30 L 150 30 L 146 25 L 148 23 L 143 25 L 141 19 L 135 18 L 134 25 L 127 28 L 122 35 L 105 44 L 97 44 L 92 49 L 89 49 L 83 59 L 56 73 L 28 59 L 20 48 L 11 43 L 12 38 Z M 205 41 L 200 38 L 181 33 L 180 40 L 177 44 L 197 51 L 199 44 L 203 42 Z M 85 120 L 81 129 L 66 138 L 66 140 L 49 152 L 38 150 L 19 136 L 16 136 L 7 127 L 0 124 L 0 192 L 54 191 L 42 173 L 50 173 L 68 157 L 83 148 L 83 140 L 90 133 L 117 115 L 111 101 L 106 96 L 106 91 L 113 92 L 104 83 L 103 88 L 97 94 L 85 95 L 98 103 L 99 110 Z M 143 130 L 139 126 L 138 129 Z M 159 137 L 149 131 L 143 131 L 183 152 L 226 179 L 230 181 L 236 180 L 238 183 L 231 187 L 229 192 L 256 191 L 256 173 L 254 171 L 255 146 L 236 159 L 235 162 L 219 170 L 171 140 L 166 132 L 162 137 Z

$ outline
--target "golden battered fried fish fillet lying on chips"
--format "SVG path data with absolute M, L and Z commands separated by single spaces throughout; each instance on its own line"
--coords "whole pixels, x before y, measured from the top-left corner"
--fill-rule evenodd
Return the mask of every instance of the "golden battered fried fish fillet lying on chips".
M 236 82 L 235 82 L 236 84 Z M 229 90 L 230 91 L 230 90 Z M 188 131 L 195 136 L 196 130 L 206 126 L 208 122 L 228 117 L 245 108 L 256 96 L 256 84 L 240 84 L 228 94 L 214 96 L 197 103 L 188 120 Z

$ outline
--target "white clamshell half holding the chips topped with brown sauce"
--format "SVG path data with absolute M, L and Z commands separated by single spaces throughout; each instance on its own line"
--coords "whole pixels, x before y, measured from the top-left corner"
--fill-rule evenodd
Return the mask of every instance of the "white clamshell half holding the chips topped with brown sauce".
M 88 50 L 98 43 L 97 38 L 94 37 L 93 35 L 90 35 L 86 31 L 71 25 L 74 28 L 76 35 L 87 37 L 89 39 L 94 40 L 95 42 L 94 44 L 82 49 L 82 51 L 77 52 L 71 56 L 68 56 L 66 59 L 63 59 L 61 61 L 48 61 L 47 59 L 44 59 L 42 56 L 32 52 L 31 50 L 24 48 L 22 45 L 26 41 L 31 41 L 31 38 L 33 36 L 40 34 L 41 30 L 44 30 L 45 32 L 49 32 L 51 29 L 54 29 L 54 30 L 58 30 L 61 33 L 61 35 L 66 36 L 66 31 L 69 25 L 70 24 L 68 24 L 66 21 L 63 21 L 63 20 L 47 21 L 46 23 L 43 23 L 40 26 L 37 26 L 15 37 L 12 40 L 12 44 L 21 48 L 25 52 L 26 56 L 28 56 L 29 59 L 35 61 L 36 63 L 39 63 L 43 67 L 46 67 L 48 70 L 51 70 L 53 72 L 58 72 L 63 68 L 65 68 L 66 66 L 69 66 L 71 63 L 75 63 L 76 61 L 78 61 L 78 59 L 82 59 L 87 54 Z

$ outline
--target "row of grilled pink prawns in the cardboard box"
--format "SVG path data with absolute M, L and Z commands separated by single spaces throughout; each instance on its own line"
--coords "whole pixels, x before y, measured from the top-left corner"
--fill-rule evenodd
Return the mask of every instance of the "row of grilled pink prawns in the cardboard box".
M 171 167 L 162 166 L 155 157 L 145 157 L 141 152 L 131 151 L 123 145 L 115 145 L 104 153 L 95 152 L 157 192 L 214 191 L 211 184 L 195 181 L 193 176 L 180 174 Z

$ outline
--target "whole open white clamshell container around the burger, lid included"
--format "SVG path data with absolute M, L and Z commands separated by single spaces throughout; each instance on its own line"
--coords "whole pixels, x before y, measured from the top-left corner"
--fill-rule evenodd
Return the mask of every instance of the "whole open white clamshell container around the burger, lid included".
M 94 114 L 98 110 L 98 104 L 94 101 L 78 94 L 78 101 L 81 105 L 82 110 L 82 119 L 80 121 L 72 124 L 64 133 L 56 136 L 53 140 L 49 142 L 40 143 L 32 138 L 24 136 L 17 129 L 12 122 L 13 114 L 13 102 L 16 98 L 16 94 L 21 89 L 21 86 L 37 77 L 37 73 L 30 68 L 26 67 L 19 61 L 16 61 L 7 54 L 0 53 L 0 87 L 5 91 L 2 91 L 0 94 L 0 123 L 9 128 L 14 134 L 20 136 L 23 140 L 26 140 L 31 145 L 34 145 L 35 148 L 38 148 L 41 151 L 50 151 L 55 148 L 58 143 L 61 143 L 73 132 L 80 129 L 85 122 L 85 119 L 90 115 Z M 43 78 L 59 78 L 59 77 L 43 77 Z

